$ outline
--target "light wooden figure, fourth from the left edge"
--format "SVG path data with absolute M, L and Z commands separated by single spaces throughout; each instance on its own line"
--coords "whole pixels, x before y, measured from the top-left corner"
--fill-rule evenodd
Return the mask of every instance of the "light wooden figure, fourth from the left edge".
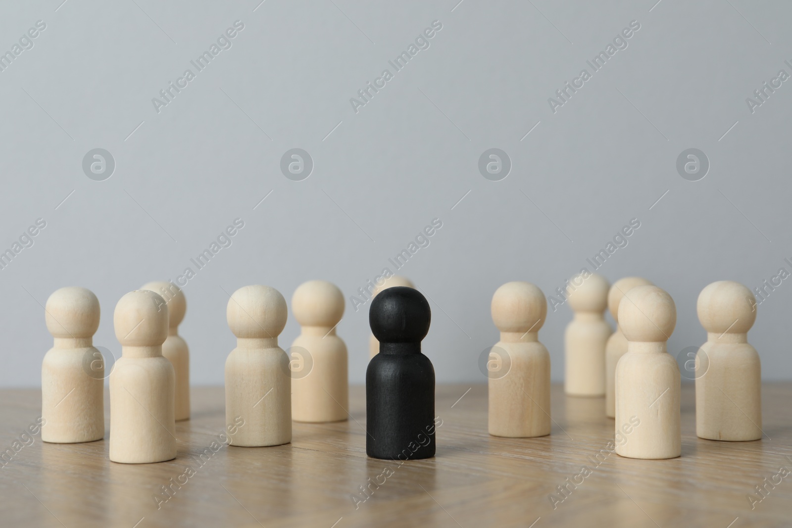
M 226 425 L 233 446 L 291 442 L 291 372 L 278 336 L 286 326 L 284 296 L 268 286 L 234 291 L 226 310 L 237 348 L 226 359 Z

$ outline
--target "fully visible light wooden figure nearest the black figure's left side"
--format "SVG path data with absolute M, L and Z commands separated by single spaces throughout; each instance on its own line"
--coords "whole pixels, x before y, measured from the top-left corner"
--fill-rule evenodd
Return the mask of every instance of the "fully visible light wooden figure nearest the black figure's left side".
M 302 326 L 290 349 L 291 365 L 295 366 L 291 369 L 291 419 L 346 420 L 347 349 L 336 335 L 336 326 L 344 316 L 344 294 L 326 280 L 309 280 L 292 295 L 291 311 Z

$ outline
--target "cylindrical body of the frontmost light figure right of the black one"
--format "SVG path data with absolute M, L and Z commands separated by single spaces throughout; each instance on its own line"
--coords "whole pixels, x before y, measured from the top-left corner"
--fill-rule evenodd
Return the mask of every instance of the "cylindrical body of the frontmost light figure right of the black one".
M 680 456 L 680 369 L 665 343 L 628 344 L 616 367 L 615 387 L 616 428 L 634 425 L 616 453 L 627 458 Z

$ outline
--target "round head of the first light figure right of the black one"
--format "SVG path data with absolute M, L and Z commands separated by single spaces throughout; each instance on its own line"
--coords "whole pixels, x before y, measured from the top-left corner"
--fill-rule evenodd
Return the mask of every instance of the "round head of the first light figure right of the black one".
M 501 332 L 539 332 L 547 317 L 547 299 L 535 284 L 514 281 L 495 291 L 490 310 Z

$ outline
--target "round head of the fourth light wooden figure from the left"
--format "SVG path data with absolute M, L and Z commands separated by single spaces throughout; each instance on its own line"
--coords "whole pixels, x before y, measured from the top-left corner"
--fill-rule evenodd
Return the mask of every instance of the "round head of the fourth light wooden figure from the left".
M 273 287 L 244 286 L 228 299 L 228 328 L 240 339 L 265 339 L 283 332 L 287 318 L 286 299 Z

